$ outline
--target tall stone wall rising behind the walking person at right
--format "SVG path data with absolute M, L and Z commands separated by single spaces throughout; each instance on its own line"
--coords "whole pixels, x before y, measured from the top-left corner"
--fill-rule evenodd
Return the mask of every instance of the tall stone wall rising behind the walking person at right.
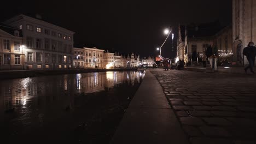
M 256 2 L 254 0 L 232 1 L 232 42 L 234 61 L 247 64 L 242 51 L 249 41 L 256 43 Z

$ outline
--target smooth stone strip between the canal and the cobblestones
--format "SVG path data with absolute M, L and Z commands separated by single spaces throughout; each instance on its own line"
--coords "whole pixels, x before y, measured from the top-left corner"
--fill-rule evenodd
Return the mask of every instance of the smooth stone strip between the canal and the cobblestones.
M 111 143 L 189 143 L 162 87 L 149 70 Z

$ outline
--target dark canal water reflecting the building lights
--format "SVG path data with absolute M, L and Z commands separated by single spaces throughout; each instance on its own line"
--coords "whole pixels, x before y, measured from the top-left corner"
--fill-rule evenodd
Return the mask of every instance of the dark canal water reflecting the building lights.
M 0 132 L 7 143 L 109 143 L 144 71 L 0 81 Z

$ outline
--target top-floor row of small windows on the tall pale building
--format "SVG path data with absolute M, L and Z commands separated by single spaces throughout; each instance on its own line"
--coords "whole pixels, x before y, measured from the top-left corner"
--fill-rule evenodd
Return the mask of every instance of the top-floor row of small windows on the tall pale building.
M 22 25 L 20 25 L 20 29 L 22 29 Z M 28 31 L 33 31 L 33 26 L 32 25 L 27 25 L 27 30 Z M 36 27 L 36 32 L 43 33 L 43 28 Z M 44 34 L 50 35 L 50 30 L 49 29 L 44 29 Z M 65 35 L 65 34 L 62 34 L 62 33 L 57 33 L 55 31 L 51 31 L 51 36 L 53 36 L 53 37 L 58 36 L 61 39 L 72 40 L 71 36 L 68 36 L 68 35 Z

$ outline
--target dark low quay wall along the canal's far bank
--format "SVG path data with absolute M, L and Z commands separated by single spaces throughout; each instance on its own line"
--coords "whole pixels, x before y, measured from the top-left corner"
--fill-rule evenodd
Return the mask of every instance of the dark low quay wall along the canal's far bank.
M 18 79 L 25 77 L 43 76 L 43 75 L 62 75 L 62 74 L 79 74 L 79 73 L 98 73 L 106 71 L 126 71 L 137 70 L 131 69 L 67 69 L 67 70 L 4 70 L 0 71 L 0 79 Z

